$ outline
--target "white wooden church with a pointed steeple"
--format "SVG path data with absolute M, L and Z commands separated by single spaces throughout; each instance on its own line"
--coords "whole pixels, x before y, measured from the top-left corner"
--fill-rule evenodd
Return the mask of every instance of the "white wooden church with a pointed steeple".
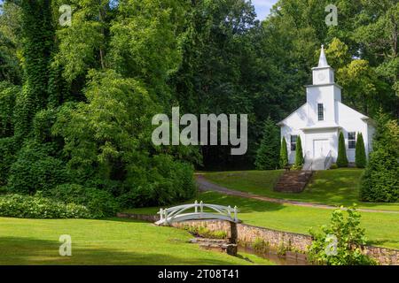
M 357 133 L 362 133 L 366 154 L 372 150 L 372 119 L 341 103 L 342 88 L 335 83 L 322 46 L 318 66 L 312 69 L 313 84 L 306 86 L 306 100 L 297 111 L 278 123 L 286 138 L 288 160 L 295 161 L 296 141 L 301 136 L 303 170 L 329 169 L 338 157 L 340 132 L 345 137 L 349 163 L 355 162 Z

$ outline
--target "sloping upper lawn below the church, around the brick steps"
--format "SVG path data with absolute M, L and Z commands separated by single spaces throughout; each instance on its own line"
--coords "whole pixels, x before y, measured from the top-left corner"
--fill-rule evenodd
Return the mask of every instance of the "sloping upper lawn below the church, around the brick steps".
M 274 198 L 350 206 L 373 210 L 397 210 L 399 203 L 364 203 L 358 200 L 358 184 L 363 170 L 336 169 L 315 172 L 301 194 L 279 193 L 273 190 L 283 171 L 207 172 L 207 180 L 223 187 Z

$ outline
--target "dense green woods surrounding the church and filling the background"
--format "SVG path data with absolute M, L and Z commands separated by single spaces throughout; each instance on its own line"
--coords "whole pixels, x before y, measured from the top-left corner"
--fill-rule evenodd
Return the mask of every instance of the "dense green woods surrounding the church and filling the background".
M 70 26 L 59 21 L 65 4 Z M 327 4 L 338 7 L 336 27 L 325 24 Z M 91 191 L 124 207 L 189 198 L 195 167 L 254 167 L 265 122 L 305 102 L 321 44 L 346 104 L 397 119 L 398 38 L 395 0 L 280 0 L 262 21 L 246 0 L 4 1 L 0 185 Z M 151 119 L 174 106 L 248 114 L 246 155 L 154 146 Z

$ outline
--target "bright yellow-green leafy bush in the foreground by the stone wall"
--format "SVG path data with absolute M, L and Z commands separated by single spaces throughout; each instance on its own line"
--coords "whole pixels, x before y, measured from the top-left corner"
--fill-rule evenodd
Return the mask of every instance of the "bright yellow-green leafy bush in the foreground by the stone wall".
M 360 213 L 355 209 L 332 212 L 329 226 L 321 226 L 321 232 L 310 230 L 313 237 L 309 248 L 309 260 L 317 264 L 327 265 L 369 265 L 374 260 L 362 253 L 365 245 L 364 229 L 360 226 Z

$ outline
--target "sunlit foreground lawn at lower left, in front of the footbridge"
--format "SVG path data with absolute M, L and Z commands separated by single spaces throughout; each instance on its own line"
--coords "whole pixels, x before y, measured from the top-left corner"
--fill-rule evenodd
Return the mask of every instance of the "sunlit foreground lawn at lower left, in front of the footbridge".
M 59 256 L 61 234 L 71 235 L 72 256 Z M 200 249 L 191 238 L 176 228 L 116 218 L 0 218 L 0 264 L 270 264 Z

